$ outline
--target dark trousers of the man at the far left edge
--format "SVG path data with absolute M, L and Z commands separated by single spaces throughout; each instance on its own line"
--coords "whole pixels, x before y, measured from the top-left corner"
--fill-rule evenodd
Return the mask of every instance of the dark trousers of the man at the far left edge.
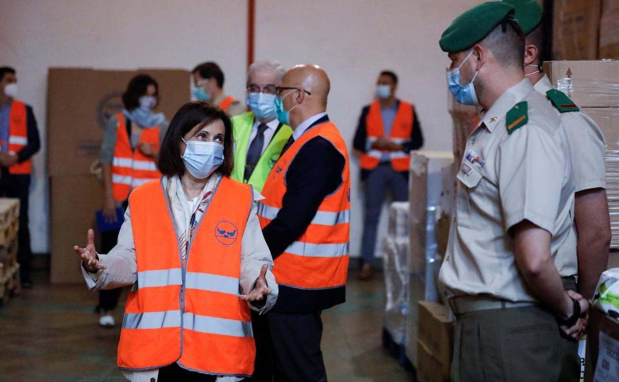
M 0 198 L 18 198 L 19 207 L 19 233 L 17 234 L 17 261 L 19 262 L 20 277 L 22 282 L 32 282 L 30 276 L 30 263 L 32 251 L 30 250 L 30 230 L 28 229 L 28 193 L 30 191 L 30 175 L 12 175 L 2 168 L 0 176 Z

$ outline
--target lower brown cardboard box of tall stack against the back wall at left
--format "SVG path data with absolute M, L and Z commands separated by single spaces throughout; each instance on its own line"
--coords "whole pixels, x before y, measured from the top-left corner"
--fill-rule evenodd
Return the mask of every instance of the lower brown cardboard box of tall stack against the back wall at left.
M 88 228 L 99 239 L 95 211 L 103 205 L 103 187 L 92 175 L 54 176 L 51 190 L 52 284 L 84 284 L 74 245 L 86 245 Z M 95 242 L 95 248 L 100 248 Z

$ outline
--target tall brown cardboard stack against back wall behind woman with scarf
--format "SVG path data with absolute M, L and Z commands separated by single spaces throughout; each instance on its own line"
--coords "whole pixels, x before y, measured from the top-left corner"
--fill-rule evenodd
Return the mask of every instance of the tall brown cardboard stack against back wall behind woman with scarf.
M 82 283 L 74 245 L 85 245 L 103 206 L 103 186 L 91 168 L 100 155 L 103 128 L 123 108 L 121 95 L 138 73 L 159 85 L 168 120 L 189 101 L 189 72 L 144 69 L 100 71 L 51 68 L 48 73 L 48 174 L 51 207 L 51 282 Z M 96 232 L 96 230 L 95 230 Z M 98 237 L 98 235 L 95 235 Z

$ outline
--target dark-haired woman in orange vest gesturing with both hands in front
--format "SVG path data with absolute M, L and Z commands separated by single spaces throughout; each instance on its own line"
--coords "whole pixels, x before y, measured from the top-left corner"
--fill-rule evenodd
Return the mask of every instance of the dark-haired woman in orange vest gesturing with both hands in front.
M 232 122 L 206 102 L 183 105 L 160 149 L 163 176 L 129 196 L 118 244 L 74 250 L 89 289 L 132 285 L 118 345 L 131 381 L 226 381 L 253 373 L 250 309 L 277 300 L 271 252 L 249 184 L 230 178 Z

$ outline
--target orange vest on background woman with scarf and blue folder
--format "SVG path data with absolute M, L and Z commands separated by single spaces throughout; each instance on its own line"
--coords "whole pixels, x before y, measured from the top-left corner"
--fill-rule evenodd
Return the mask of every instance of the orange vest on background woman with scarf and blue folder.
M 116 147 L 112 160 L 112 193 L 117 201 L 126 201 L 132 189 L 147 181 L 160 178 L 157 163 L 137 149 L 131 149 L 127 126 L 124 123 L 123 113 L 116 115 Z M 142 129 L 140 143 L 152 145 L 155 151 L 159 150 L 159 127 Z

